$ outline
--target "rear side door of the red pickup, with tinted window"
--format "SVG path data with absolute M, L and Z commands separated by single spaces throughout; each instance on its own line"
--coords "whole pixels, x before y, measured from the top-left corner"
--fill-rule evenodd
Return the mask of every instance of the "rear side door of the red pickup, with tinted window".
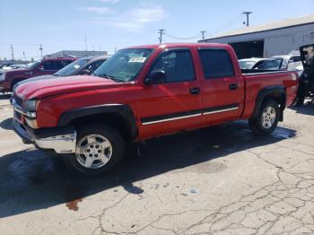
M 244 82 L 233 65 L 230 52 L 224 48 L 199 48 L 203 68 L 204 125 L 212 125 L 240 117 L 243 110 Z M 234 61 L 237 61 L 234 57 Z

